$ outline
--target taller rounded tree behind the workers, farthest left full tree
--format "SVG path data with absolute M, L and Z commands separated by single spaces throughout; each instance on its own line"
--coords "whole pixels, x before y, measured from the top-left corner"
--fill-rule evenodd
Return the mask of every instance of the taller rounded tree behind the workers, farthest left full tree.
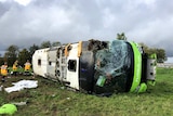
M 6 52 L 4 53 L 4 61 L 8 62 L 8 65 L 12 66 L 15 60 L 17 59 L 18 55 L 18 47 L 17 46 L 10 46 L 6 49 Z

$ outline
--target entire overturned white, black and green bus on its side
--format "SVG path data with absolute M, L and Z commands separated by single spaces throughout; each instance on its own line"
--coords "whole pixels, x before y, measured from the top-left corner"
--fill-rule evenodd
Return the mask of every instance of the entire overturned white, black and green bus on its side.
M 135 42 L 89 40 L 37 50 L 36 75 L 94 94 L 145 92 L 155 83 L 156 55 Z

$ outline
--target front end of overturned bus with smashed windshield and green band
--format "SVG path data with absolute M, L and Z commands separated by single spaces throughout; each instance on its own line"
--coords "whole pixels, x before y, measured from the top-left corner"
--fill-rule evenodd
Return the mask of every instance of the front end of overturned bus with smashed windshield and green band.
M 145 92 L 155 85 L 156 55 L 147 55 L 135 42 L 114 40 L 95 54 L 94 92 Z

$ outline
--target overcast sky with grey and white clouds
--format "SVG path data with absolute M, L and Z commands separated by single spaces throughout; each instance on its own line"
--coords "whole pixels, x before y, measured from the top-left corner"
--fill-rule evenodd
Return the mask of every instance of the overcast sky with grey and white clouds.
M 0 0 L 0 51 L 46 40 L 112 40 L 118 33 L 173 55 L 173 1 Z

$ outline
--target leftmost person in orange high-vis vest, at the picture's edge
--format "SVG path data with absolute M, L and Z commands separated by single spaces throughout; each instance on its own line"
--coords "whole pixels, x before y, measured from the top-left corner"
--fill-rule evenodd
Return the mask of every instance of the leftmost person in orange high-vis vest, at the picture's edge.
M 1 81 L 4 82 L 5 81 L 5 77 L 8 76 L 8 63 L 4 62 L 4 64 L 1 66 Z

